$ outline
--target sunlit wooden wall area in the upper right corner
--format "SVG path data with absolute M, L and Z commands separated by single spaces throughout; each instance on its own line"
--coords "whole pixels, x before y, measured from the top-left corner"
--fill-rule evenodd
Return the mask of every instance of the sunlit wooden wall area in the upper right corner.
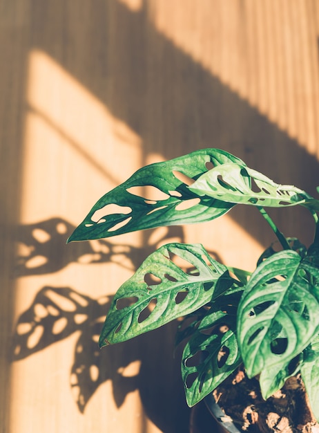
M 179 3 L 149 2 L 155 28 L 318 156 L 318 2 Z

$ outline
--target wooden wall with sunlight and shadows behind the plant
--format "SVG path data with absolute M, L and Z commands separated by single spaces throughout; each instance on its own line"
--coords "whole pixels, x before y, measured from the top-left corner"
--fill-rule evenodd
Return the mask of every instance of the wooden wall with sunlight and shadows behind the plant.
M 318 38 L 316 0 L 0 1 L 1 432 L 188 430 L 175 324 L 99 351 L 110 296 L 164 239 L 253 269 L 268 228 L 238 208 L 65 241 L 135 169 L 202 147 L 316 194 Z M 305 212 L 273 216 L 309 245 Z

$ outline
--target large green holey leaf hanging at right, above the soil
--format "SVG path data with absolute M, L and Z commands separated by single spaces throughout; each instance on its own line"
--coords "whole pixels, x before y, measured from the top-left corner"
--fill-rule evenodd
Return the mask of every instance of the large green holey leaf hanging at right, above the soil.
M 262 262 L 238 307 L 238 341 L 249 377 L 289 362 L 307 347 L 319 326 L 316 246 L 305 259 L 283 250 Z

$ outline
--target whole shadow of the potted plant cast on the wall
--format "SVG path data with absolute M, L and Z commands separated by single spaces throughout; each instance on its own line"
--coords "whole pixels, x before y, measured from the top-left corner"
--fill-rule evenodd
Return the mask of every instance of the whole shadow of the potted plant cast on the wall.
M 164 230 L 146 230 L 144 248 L 115 245 L 104 240 L 94 241 L 95 248 L 90 242 L 70 243 L 70 247 L 74 248 L 65 248 L 66 233 L 73 229 L 72 224 L 58 217 L 21 225 L 17 230 L 18 250 L 21 251 L 17 256 L 18 275 L 52 273 L 72 262 L 112 262 L 123 266 L 123 258 L 133 271 L 162 243 L 181 242 L 184 239 L 183 229 L 174 226 Z M 37 263 L 39 266 L 36 266 Z M 95 300 L 70 287 L 44 286 L 17 320 L 12 338 L 12 361 L 28 358 L 78 331 L 74 362 L 70 369 L 70 388 L 79 411 L 84 413 L 99 385 L 110 380 L 117 407 L 122 405 L 128 393 L 138 389 L 152 421 L 165 432 L 178 432 L 182 424 L 176 427 L 176 414 L 184 414 L 179 418 L 185 418 L 183 422 L 186 427 L 189 408 L 186 407 L 180 376 L 180 349 L 177 349 L 173 359 L 177 322 L 134 340 L 99 350 L 99 333 L 111 300 L 110 296 Z M 158 351 L 159 347 L 165 347 L 172 359 L 166 364 L 162 358 L 153 358 L 149 365 L 150 354 Z M 139 365 L 138 371 L 133 374 L 128 373 L 132 363 Z M 169 403 L 171 400 L 166 398 L 172 389 L 176 400 L 174 411 Z M 162 402 L 160 412 L 157 409 L 159 398 Z M 162 407 L 165 408 L 165 418 L 162 417 Z

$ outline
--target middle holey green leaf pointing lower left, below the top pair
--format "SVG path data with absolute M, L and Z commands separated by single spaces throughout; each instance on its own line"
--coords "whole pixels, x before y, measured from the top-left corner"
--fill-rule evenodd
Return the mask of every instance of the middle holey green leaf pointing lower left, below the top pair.
M 195 268 L 197 273 L 182 266 Z M 99 345 L 128 340 L 192 313 L 232 284 L 226 266 L 209 257 L 203 246 L 168 243 L 153 252 L 119 288 Z

